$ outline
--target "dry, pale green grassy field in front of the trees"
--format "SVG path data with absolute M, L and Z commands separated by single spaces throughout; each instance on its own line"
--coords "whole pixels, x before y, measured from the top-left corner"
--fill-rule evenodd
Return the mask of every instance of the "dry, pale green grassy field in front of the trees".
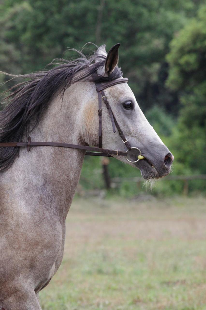
M 44 310 L 205 310 L 206 200 L 75 199 Z

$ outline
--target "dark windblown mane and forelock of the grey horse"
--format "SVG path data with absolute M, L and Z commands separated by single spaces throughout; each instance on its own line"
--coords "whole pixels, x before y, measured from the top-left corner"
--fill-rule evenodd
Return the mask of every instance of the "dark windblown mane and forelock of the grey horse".
M 105 64 L 106 56 L 85 56 L 82 52 L 71 49 L 79 54 L 75 60 L 57 59 L 49 65 L 55 67 L 49 70 L 24 75 L 11 75 L 0 71 L 11 79 L 21 78 L 23 82 L 5 91 L 6 106 L 0 112 L 0 142 L 22 142 L 23 136 L 28 135 L 39 123 L 41 115 L 54 94 L 62 93 L 78 81 L 95 82 L 112 81 L 122 76 L 120 68 L 116 67 L 108 76 L 98 76 L 97 69 Z M 95 60 L 98 58 L 98 62 Z M 32 126 L 32 128 L 30 128 Z M 8 169 L 19 155 L 19 148 L 0 148 L 0 172 Z

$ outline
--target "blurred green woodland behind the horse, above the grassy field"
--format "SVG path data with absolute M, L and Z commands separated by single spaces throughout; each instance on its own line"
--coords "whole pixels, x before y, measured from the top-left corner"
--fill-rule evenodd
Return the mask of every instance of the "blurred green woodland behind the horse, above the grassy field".
M 206 184 L 205 16 L 203 0 L 1 0 L 1 70 L 29 73 L 54 58 L 75 57 L 68 47 L 79 50 L 93 42 L 108 51 L 121 42 L 123 74 L 175 157 L 172 176 L 157 182 L 153 195 L 200 193 Z M 91 50 L 88 44 L 84 53 Z M 106 196 L 145 192 L 139 171 L 113 159 L 103 164 L 85 158 L 80 195 L 94 189 Z

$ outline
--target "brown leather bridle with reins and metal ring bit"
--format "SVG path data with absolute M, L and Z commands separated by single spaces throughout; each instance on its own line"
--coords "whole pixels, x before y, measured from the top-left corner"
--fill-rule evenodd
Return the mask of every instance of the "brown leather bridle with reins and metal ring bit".
M 92 75 L 93 80 L 94 79 L 94 75 Z M 69 143 L 59 143 L 59 142 L 32 142 L 31 141 L 31 137 L 28 137 L 28 141 L 27 142 L 6 142 L 6 143 L 0 143 L 0 147 L 21 147 L 21 146 L 26 146 L 27 147 L 27 151 L 29 152 L 30 147 L 31 146 L 58 146 L 58 147 L 63 147 L 63 148 L 77 148 L 77 149 L 81 149 L 81 150 L 85 150 L 86 153 L 85 155 L 92 155 L 92 156 L 107 156 L 107 157 L 112 157 L 112 155 L 118 155 L 118 156 L 126 156 L 126 159 L 128 160 L 128 162 L 132 162 L 127 158 L 127 153 L 128 151 L 130 151 L 131 149 L 136 149 L 139 151 L 139 155 L 141 156 L 141 151 L 139 148 L 136 147 L 131 147 L 127 138 L 125 137 L 123 131 L 121 130 L 115 116 L 114 113 L 112 112 L 112 109 L 109 105 L 109 102 L 107 100 L 107 96 L 105 95 L 104 90 L 108 87 L 111 87 L 113 85 L 117 85 L 117 84 L 121 84 L 121 83 L 127 83 L 128 82 L 128 78 L 119 78 L 116 79 L 114 81 L 110 81 L 105 83 L 104 85 L 102 85 L 100 82 L 95 82 L 95 86 L 96 86 L 96 90 L 98 93 L 98 101 L 99 101 L 99 105 L 98 105 L 98 118 L 99 118 L 99 147 L 90 147 L 90 146 L 86 146 L 86 145 L 79 145 L 79 144 L 69 144 Z M 126 152 L 122 152 L 122 151 L 118 151 L 118 150 L 109 150 L 106 148 L 102 148 L 102 99 L 106 105 L 106 108 L 109 112 L 109 116 L 112 122 L 112 128 L 113 128 L 113 132 L 116 132 L 115 127 L 118 130 L 118 133 L 120 135 L 120 137 L 122 138 L 122 142 L 126 145 L 127 147 L 127 151 Z M 134 161 L 134 162 L 138 162 L 141 158 L 138 158 L 138 160 Z M 133 162 L 133 163 L 134 163 Z

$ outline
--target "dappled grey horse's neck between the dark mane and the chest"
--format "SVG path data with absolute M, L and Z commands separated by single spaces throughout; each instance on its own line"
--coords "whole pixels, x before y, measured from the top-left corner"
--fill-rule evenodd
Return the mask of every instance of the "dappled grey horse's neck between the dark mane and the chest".
M 78 91 L 75 85 L 66 90 L 63 101 L 61 95 L 51 100 L 39 125 L 30 133 L 32 141 L 85 143 L 82 131 L 86 128 L 87 98 L 82 87 Z M 2 175 L 1 184 L 9 182 L 12 201 L 20 208 L 46 208 L 63 222 L 79 182 L 83 160 L 84 151 L 77 149 L 43 146 L 31 147 L 27 152 L 21 148 L 19 158 Z

